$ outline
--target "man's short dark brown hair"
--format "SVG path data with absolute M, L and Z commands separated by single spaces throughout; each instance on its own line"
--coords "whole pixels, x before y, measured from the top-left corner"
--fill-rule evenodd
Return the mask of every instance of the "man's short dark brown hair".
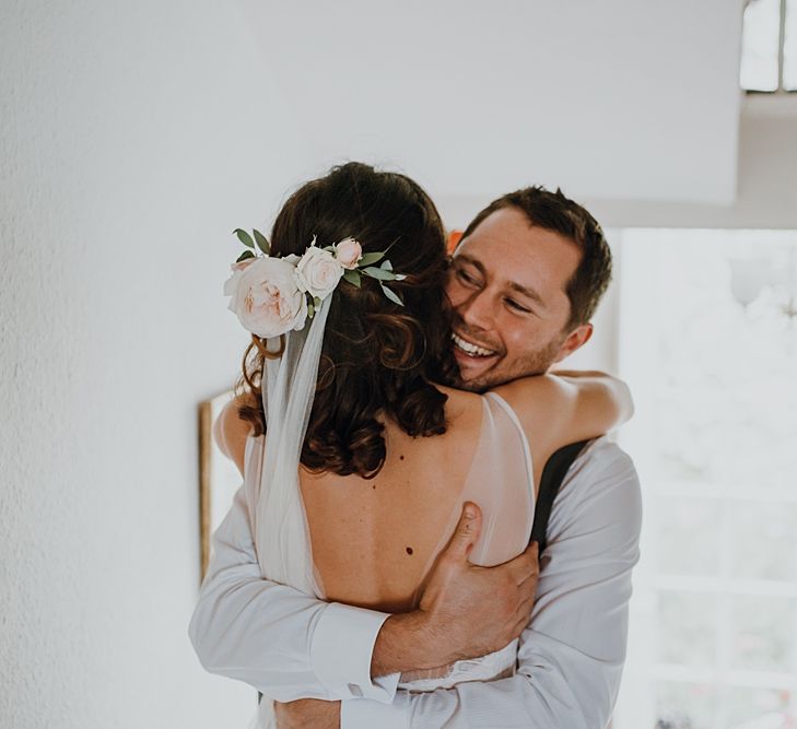
M 560 189 L 551 192 L 542 186 L 525 187 L 484 208 L 470 222 L 462 240 L 484 219 L 504 208 L 517 208 L 531 225 L 559 233 L 581 248 L 582 259 L 565 286 L 570 299 L 566 329 L 587 324 L 611 281 L 611 251 L 598 221 Z

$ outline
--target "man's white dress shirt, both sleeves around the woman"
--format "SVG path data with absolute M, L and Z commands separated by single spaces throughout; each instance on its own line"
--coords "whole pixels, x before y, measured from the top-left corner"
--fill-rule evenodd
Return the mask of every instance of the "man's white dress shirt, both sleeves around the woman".
M 189 628 L 211 672 L 278 701 L 342 699 L 343 729 L 603 729 L 617 698 L 638 560 L 640 483 L 607 438 L 576 459 L 554 501 L 537 599 L 511 678 L 427 693 L 371 679 L 386 613 L 325 603 L 260 577 L 243 494 L 215 532 Z

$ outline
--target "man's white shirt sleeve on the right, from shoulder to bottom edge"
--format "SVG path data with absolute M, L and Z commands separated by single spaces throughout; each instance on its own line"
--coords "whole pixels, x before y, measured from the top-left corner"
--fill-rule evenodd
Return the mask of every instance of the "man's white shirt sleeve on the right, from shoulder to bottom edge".
M 641 526 L 633 463 L 600 438 L 573 465 L 554 502 L 515 675 L 429 693 L 399 690 L 391 706 L 345 701 L 341 728 L 603 729 L 625 660 Z

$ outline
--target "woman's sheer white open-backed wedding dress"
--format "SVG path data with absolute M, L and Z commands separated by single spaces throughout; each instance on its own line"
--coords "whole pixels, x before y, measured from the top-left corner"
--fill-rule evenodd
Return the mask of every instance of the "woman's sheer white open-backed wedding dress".
M 450 538 L 465 501 L 479 504 L 482 510 L 482 531 L 471 552 L 471 562 L 483 566 L 501 564 L 523 552 L 529 542 L 535 513 L 535 493 L 531 454 L 526 435 L 515 412 L 503 398 L 489 392 L 482 396 L 482 403 L 484 412 L 481 434 L 473 460 L 462 483 L 460 497 L 452 508 L 448 526 L 441 534 L 433 557 L 426 565 L 424 578 L 431 571 L 434 558 Z M 262 479 L 263 445 L 263 436 L 258 438 L 250 436 L 246 444 L 244 484 L 251 505 L 257 504 L 259 490 L 265 487 L 260 484 L 267 483 Z M 270 436 L 269 448 L 272 448 L 273 445 L 272 436 Z M 295 479 L 295 491 L 298 494 L 297 478 Z M 302 509 L 301 514 L 296 513 L 296 503 Z M 304 549 L 308 562 L 304 565 L 301 561 L 297 562 L 292 573 L 290 566 L 285 567 L 285 560 L 277 563 L 272 569 L 268 565 L 268 560 L 263 560 L 259 555 L 263 577 L 293 585 L 324 599 L 318 581 L 310 576 L 309 532 L 306 520 L 304 520 L 301 495 L 291 508 L 293 512 L 290 518 L 285 518 L 284 513 L 280 515 L 279 508 L 273 512 L 261 509 L 259 512 L 260 521 L 254 526 L 258 531 L 267 529 L 279 532 L 280 528 L 292 524 L 295 533 L 291 536 L 293 539 L 291 549 Z M 310 574 L 308 574 L 308 568 Z M 274 572 L 277 574 L 273 574 Z M 449 689 L 465 681 L 491 681 L 506 678 L 514 674 L 516 651 L 517 640 L 513 640 L 496 652 L 470 660 L 460 660 L 444 670 L 405 673 L 401 675 L 399 689 L 426 692 L 439 687 Z M 271 704 L 270 699 L 263 697 L 258 715 L 250 725 L 251 729 L 270 729 L 276 726 Z

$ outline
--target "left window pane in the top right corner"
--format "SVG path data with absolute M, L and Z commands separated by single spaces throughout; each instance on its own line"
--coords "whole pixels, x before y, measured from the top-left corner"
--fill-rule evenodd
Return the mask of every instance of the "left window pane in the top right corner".
M 742 89 L 777 91 L 780 39 L 781 0 L 750 0 L 741 34 Z

